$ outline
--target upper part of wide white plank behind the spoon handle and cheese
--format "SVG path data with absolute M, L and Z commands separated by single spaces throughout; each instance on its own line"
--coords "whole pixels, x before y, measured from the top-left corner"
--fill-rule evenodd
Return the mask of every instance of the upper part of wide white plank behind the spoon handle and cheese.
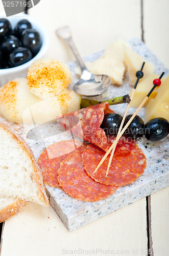
M 118 37 L 141 36 L 140 3 L 135 0 L 106 0 L 106 4 L 104 0 L 52 0 L 50 4 L 41 0 L 29 13 L 49 31 L 50 46 L 46 56 L 63 62 L 74 60 L 74 56 L 55 35 L 59 27 L 70 26 L 81 56 L 105 49 Z

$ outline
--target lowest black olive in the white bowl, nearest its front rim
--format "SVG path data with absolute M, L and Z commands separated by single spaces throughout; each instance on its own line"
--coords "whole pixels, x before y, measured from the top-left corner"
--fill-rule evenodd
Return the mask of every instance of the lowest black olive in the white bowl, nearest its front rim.
M 11 62 L 13 67 L 22 65 L 31 59 L 31 51 L 23 47 L 15 48 L 15 50 L 13 50 L 13 52 L 9 55 L 9 61 Z

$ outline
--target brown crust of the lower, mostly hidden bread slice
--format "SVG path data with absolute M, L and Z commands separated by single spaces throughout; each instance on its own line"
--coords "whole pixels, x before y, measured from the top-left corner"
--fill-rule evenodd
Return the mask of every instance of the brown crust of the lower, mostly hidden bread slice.
M 28 201 L 22 199 L 14 199 L 14 202 L 4 209 L 0 210 L 0 223 L 8 220 L 15 214 L 17 214 L 23 207 L 28 203 Z

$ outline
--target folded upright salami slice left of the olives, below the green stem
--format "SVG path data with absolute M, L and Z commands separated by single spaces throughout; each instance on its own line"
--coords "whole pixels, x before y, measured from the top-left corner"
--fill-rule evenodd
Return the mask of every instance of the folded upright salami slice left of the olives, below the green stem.
M 108 150 L 107 137 L 100 125 L 104 115 L 114 113 L 109 109 L 108 102 L 89 106 L 88 108 L 75 111 L 57 119 L 58 123 L 66 130 L 92 144 L 99 146 L 102 150 Z

